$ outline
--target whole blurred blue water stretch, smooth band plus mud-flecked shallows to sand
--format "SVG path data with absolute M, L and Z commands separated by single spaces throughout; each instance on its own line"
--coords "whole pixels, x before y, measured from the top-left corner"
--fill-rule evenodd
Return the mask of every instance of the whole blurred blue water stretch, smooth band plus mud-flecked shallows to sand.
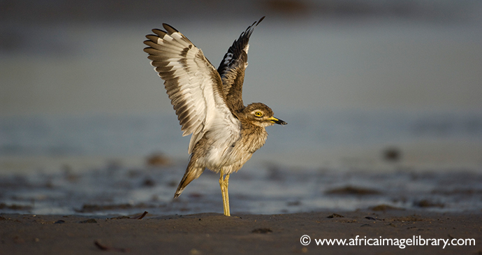
M 377 205 L 442 212 L 482 209 L 480 146 L 469 151 L 474 150 L 469 145 L 482 144 L 479 114 L 350 111 L 286 117 L 290 124 L 270 128 L 265 147 L 231 176 L 234 213 L 356 210 Z M 209 170 L 189 184 L 179 199 L 171 200 L 187 165 L 189 143 L 189 138 L 180 136 L 172 116 L 2 117 L 0 123 L 0 212 L 221 212 L 219 177 Z M 404 145 L 421 140 L 437 141 L 422 149 L 434 151 L 435 158 L 414 163 L 409 154 L 417 151 L 410 152 Z M 448 156 L 437 148 L 441 141 L 450 145 L 444 148 Z M 367 156 L 370 147 L 377 150 Z M 400 158 L 384 157 L 387 147 L 395 148 Z M 163 152 L 170 163 L 149 166 L 144 158 L 152 152 Z M 458 153 L 468 157 L 449 159 Z M 48 163 L 34 160 L 29 169 L 15 170 L 32 155 Z M 85 156 L 81 161 L 86 162 L 98 155 L 105 159 L 78 167 L 68 158 L 71 155 Z M 129 164 L 124 155 L 141 160 Z M 425 161 L 430 164 L 424 165 Z M 361 191 L 330 194 L 332 189 L 351 188 Z M 374 194 L 364 194 L 365 189 Z

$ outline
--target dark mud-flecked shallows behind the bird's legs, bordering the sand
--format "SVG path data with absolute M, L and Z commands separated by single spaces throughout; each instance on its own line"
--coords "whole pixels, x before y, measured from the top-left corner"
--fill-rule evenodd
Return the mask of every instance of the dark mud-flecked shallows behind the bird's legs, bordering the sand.
M 192 214 L 222 212 L 219 176 L 206 172 L 172 200 L 184 166 L 111 164 L 73 173 L 0 178 L 0 212 L 30 214 Z M 369 209 L 480 212 L 482 174 L 396 170 L 243 168 L 231 175 L 231 212 L 278 214 Z M 376 209 L 375 209 L 376 210 Z M 390 210 L 390 209 L 388 209 Z

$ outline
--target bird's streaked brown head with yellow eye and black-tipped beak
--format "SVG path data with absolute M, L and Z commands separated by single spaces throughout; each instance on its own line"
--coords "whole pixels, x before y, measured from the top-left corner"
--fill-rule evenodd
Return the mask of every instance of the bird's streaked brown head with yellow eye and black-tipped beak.
M 264 103 L 251 103 L 241 112 L 241 115 L 251 124 L 256 126 L 272 126 L 273 124 L 286 125 L 281 119 L 273 117 L 273 111 Z

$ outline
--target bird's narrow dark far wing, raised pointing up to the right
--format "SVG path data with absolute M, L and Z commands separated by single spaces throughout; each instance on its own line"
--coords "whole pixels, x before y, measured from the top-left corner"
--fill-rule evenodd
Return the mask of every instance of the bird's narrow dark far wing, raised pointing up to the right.
M 242 32 L 240 38 L 234 41 L 233 45 L 224 54 L 221 64 L 217 68 L 223 82 L 223 92 L 228 108 L 236 114 L 244 108 L 242 103 L 242 82 L 244 81 L 244 71 L 248 66 L 249 36 L 253 34 L 254 28 L 265 17 L 254 22 L 246 31 Z

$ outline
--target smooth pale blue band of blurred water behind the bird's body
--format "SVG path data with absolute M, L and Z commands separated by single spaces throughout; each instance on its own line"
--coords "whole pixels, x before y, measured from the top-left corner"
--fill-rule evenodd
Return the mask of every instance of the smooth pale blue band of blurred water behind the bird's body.
M 270 161 L 282 161 L 284 154 L 302 156 L 306 150 L 316 156 L 330 148 L 378 146 L 382 150 L 423 140 L 462 145 L 482 142 L 480 112 L 297 112 L 282 118 L 289 125 L 269 127 L 268 142 L 254 158 L 269 154 Z M 0 154 L 122 157 L 163 152 L 182 159 L 187 157 L 189 136 L 181 134 L 174 114 L 0 117 Z M 476 163 L 480 157 L 473 160 Z

